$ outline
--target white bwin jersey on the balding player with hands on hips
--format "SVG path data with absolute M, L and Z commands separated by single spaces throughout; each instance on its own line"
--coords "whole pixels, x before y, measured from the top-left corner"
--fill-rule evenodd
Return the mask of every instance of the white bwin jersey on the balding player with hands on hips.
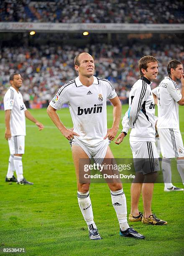
M 104 78 L 94 77 L 90 86 L 84 86 L 79 77 L 64 84 L 49 103 L 59 110 L 68 103 L 72 116 L 74 136 L 87 146 L 97 146 L 107 134 L 106 101 L 117 96 L 112 84 Z M 108 138 L 107 138 L 108 139 Z

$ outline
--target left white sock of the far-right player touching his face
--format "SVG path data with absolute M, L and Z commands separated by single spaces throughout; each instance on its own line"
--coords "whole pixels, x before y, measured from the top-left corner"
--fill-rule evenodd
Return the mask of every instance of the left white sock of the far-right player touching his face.
M 174 187 L 174 185 L 171 182 L 171 158 L 163 158 L 162 159 L 162 172 L 163 172 L 163 179 L 164 179 L 164 184 L 165 188 L 171 188 Z

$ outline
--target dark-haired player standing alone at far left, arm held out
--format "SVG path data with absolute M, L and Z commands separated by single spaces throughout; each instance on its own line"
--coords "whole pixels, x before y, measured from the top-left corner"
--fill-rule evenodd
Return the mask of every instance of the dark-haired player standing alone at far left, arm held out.
M 17 182 L 20 185 L 33 185 L 23 177 L 22 155 L 24 154 L 26 136 L 26 118 L 35 123 L 39 130 L 43 129 L 43 124 L 39 123 L 27 110 L 19 88 L 22 86 L 23 79 L 20 74 L 10 76 L 10 88 L 5 93 L 5 139 L 8 140 L 10 157 L 8 172 L 5 181 Z M 14 177 L 16 171 L 17 179 Z

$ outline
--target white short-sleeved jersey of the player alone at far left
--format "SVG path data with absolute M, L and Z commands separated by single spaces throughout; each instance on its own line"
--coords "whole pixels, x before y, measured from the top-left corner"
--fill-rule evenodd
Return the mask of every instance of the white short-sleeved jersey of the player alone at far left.
M 13 87 L 10 87 L 5 93 L 4 109 L 11 110 L 11 136 L 26 136 L 26 118 L 24 113 L 26 111 L 26 106 L 23 102 L 22 94 L 17 92 Z

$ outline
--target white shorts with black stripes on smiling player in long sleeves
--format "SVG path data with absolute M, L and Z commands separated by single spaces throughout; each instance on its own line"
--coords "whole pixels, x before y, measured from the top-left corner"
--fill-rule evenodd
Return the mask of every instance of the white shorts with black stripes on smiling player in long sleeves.
M 160 171 L 158 154 L 153 141 L 130 141 L 135 172 L 148 174 Z

